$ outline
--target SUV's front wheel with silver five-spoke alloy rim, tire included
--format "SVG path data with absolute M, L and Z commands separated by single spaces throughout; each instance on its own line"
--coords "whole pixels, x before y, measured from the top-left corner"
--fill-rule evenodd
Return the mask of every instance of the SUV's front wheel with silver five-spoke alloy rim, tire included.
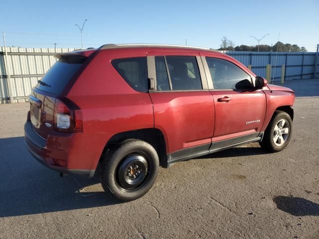
M 259 144 L 270 152 L 287 147 L 293 132 L 293 121 L 286 112 L 276 111 Z

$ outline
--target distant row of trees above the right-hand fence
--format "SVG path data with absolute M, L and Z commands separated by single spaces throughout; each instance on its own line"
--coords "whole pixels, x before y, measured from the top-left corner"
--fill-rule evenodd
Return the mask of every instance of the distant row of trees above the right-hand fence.
M 307 49 L 302 46 L 299 47 L 297 44 L 290 44 L 286 43 L 284 44 L 281 41 L 276 42 L 275 45 L 272 47 L 270 45 L 259 45 L 259 51 L 301 51 L 301 52 L 307 52 Z M 258 51 L 258 45 L 255 46 L 247 46 L 247 45 L 240 45 L 235 46 L 235 43 L 231 40 L 228 40 L 226 36 L 223 36 L 221 39 L 220 48 L 218 50 L 227 50 L 227 51 Z

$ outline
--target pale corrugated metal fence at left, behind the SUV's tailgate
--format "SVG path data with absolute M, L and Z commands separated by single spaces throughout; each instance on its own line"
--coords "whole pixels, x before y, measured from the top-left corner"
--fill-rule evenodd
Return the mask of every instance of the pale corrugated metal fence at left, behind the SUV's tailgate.
M 0 104 L 25 102 L 43 74 L 56 62 L 54 54 L 74 48 L 0 47 Z M 6 52 L 6 54 L 5 54 Z

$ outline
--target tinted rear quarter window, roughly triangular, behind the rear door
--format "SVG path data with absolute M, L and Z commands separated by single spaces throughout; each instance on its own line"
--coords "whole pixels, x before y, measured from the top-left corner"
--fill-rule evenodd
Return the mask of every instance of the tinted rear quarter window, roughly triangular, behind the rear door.
M 113 67 L 134 89 L 148 92 L 148 69 L 146 57 L 132 57 L 112 60 Z

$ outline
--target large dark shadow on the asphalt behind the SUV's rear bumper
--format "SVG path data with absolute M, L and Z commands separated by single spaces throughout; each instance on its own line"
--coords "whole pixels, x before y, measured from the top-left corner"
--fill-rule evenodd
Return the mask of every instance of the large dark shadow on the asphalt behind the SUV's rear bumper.
M 85 178 L 67 175 L 38 163 L 23 137 L 0 139 L 0 217 L 12 217 L 121 203 L 102 190 L 89 192 L 99 175 Z

